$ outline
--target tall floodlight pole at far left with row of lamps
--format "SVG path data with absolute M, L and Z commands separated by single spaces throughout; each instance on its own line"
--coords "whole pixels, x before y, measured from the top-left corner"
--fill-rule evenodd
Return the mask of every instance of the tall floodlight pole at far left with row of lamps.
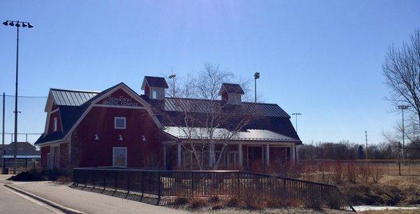
M 22 27 L 32 28 L 34 27 L 29 22 L 20 22 L 20 21 L 10 21 L 6 20 L 3 22 L 6 26 L 16 27 L 18 34 L 16 37 L 16 86 L 15 86 L 15 143 L 13 145 L 13 174 L 16 174 L 16 167 L 18 162 L 16 161 L 16 155 L 18 155 L 18 70 L 19 70 L 19 27 L 22 24 Z

